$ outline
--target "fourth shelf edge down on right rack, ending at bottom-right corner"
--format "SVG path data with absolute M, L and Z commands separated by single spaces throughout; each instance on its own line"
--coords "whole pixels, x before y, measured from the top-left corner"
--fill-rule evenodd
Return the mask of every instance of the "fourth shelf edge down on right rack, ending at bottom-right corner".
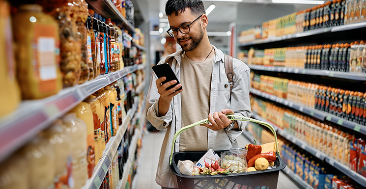
M 261 120 L 261 121 L 268 122 L 268 120 L 260 117 L 256 113 L 253 113 L 252 117 L 254 119 L 258 119 L 258 120 Z M 278 126 L 274 125 L 273 123 L 271 123 L 271 124 L 272 124 L 272 126 L 277 128 L 277 134 L 281 135 L 282 137 L 286 138 L 288 141 L 290 141 L 293 144 L 296 144 L 297 146 L 299 146 L 302 149 L 306 150 L 307 152 L 309 152 L 310 154 L 312 154 L 313 156 L 315 156 L 319 160 L 321 160 L 321 161 L 325 160 L 325 162 L 328 162 L 330 165 L 332 165 L 333 167 L 335 167 L 336 169 L 338 169 L 339 171 L 341 171 L 345 175 L 349 176 L 351 179 L 353 179 L 354 181 L 356 181 L 357 183 L 359 183 L 363 187 L 366 187 L 366 178 L 363 177 L 362 175 L 356 173 L 355 171 L 352 171 L 347 166 L 345 166 L 345 165 L 341 164 L 340 162 L 334 160 L 333 158 L 325 155 L 324 153 L 320 152 L 319 150 L 309 146 L 309 144 L 307 144 L 306 142 L 298 139 L 296 136 L 291 135 L 288 132 L 278 128 Z

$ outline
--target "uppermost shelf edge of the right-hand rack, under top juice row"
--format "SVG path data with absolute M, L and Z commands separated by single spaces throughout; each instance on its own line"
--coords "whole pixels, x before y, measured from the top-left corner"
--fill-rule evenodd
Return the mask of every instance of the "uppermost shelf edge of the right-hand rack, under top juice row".
M 363 27 L 366 27 L 366 22 L 347 24 L 347 25 L 336 26 L 336 27 L 320 28 L 320 29 L 314 29 L 314 30 L 305 31 L 305 32 L 301 32 L 301 33 L 284 35 L 281 37 L 272 37 L 272 38 L 268 38 L 268 39 L 255 40 L 255 41 L 247 42 L 247 43 L 239 43 L 239 47 L 246 47 L 246 46 L 264 44 L 264 43 L 272 43 L 272 42 L 276 42 L 276 41 L 282 41 L 282 40 L 287 40 L 287 39 L 296 39 L 296 38 L 300 38 L 300 37 L 307 37 L 307 36 L 318 35 L 318 34 L 327 34 L 327 33 L 331 33 L 331 32 L 333 33 L 333 32 L 338 32 L 338 31 L 348 31 L 348 30 L 359 29 L 359 28 L 363 28 Z

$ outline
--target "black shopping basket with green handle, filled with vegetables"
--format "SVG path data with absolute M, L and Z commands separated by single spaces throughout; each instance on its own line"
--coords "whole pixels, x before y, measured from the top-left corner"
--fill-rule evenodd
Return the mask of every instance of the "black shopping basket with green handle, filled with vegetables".
M 231 173 L 229 175 L 184 175 L 181 174 L 177 164 L 178 161 L 191 160 L 192 162 L 198 161 L 206 152 L 175 152 L 174 143 L 176 138 L 185 130 L 195 127 L 197 125 L 209 123 L 207 119 L 198 121 L 191 125 L 181 128 L 173 137 L 173 145 L 170 153 L 170 169 L 177 177 L 179 189 L 276 189 L 278 183 L 278 177 L 280 170 L 285 168 L 285 164 L 282 162 L 280 152 L 278 151 L 278 142 L 275 129 L 272 125 L 259 121 L 253 118 L 238 116 L 238 115 L 226 115 L 230 120 L 237 121 L 251 121 L 268 127 L 275 136 L 276 142 L 276 162 L 275 167 L 272 169 L 253 171 L 246 173 Z M 215 151 L 217 154 L 221 154 L 228 150 Z

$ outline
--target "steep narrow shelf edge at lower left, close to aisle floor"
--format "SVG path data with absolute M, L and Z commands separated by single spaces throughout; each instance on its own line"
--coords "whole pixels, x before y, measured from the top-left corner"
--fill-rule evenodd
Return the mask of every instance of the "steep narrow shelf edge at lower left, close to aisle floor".
M 138 130 L 138 129 L 136 129 L 136 130 Z M 135 130 L 135 135 L 131 139 L 132 145 L 128 149 L 129 156 L 128 156 L 127 163 L 125 163 L 125 165 L 123 166 L 123 176 L 121 179 L 122 182 L 118 183 L 117 189 L 124 189 L 124 187 L 126 186 L 127 178 L 128 178 L 128 175 L 130 174 L 130 169 L 133 165 L 132 163 L 134 162 L 135 151 L 137 149 L 137 141 L 138 141 L 140 133 L 141 133 L 141 130 L 138 130 L 137 132 L 136 132 L 136 130 Z

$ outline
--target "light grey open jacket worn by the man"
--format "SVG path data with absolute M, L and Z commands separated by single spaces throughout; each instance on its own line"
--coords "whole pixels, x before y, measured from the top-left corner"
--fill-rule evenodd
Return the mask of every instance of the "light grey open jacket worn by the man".
M 212 68 L 210 113 L 214 113 L 215 111 L 220 112 L 222 109 L 229 108 L 232 109 L 237 115 L 250 117 L 250 68 L 242 61 L 233 58 L 234 86 L 232 88 L 230 102 L 230 87 L 228 87 L 229 82 L 225 74 L 224 53 L 215 46 L 213 47 L 215 49 L 215 57 Z M 171 68 L 178 80 L 181 73 L 180 61 L 182 53 L 183 51 L 180 50 L 174 54 L 168 55 L 174 56 Z M 159 62 L 159 64 L 162 63 L 164 63 L 164 60 Z M 157 91 L 155 83 L 156 80 L 157 77 L 155 74 L 153 74 L 149 92 L 146 98 L 146 118 L 156 129 L 167 129 L 160 151 L 159 165 L 156 173 L 156 183 L 162 187 L 178 188 L 176 177 L 169 168 L 169 156 L 175 132 L 181 127 L 184 127 L 181 126 L 181 97 L 180 94 L 174 96 L 173 100 L 170 102 L 170 108 L 167 114 L 158 117 L 160 95 Z M 192 109 L 199 111 L 199 107 L 192 107 Z M 193 121 L 196 122 L 199 120 Z M 241 135 L 242 130 L 244 130 L 248 122 L 239 121 L 238 123 L 239 131 L 219 130 L 216 132 L 209 129 L 207 150 L 210 148 L 214 150 L 228 150 L 230 147 L 238 147 L 236 137 Z M 175 152 L 179 152 L 179 137 L 175 142 Z

